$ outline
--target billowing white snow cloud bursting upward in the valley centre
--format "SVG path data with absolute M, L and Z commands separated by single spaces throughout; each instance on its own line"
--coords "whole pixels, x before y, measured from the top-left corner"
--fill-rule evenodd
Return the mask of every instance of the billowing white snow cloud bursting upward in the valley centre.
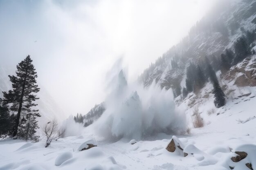
M 148 88 L 129 85 L 123 70 L 108 87 L 112 90 L 106 98 L 106 111 L 93 125 L 106 139 L 145 139 L 185 130 L 186 117 L 175 110 L 172 90 L 155 83 Z

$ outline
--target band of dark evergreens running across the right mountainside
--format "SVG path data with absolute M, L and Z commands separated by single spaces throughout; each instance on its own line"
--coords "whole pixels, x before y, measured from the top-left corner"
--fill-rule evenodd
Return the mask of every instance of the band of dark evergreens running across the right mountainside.
M 215 97 L 214 104 L 217 108 L 225 105 L 225 93 L 222 91 L 218 82 L 216 71 L 221 71 L 222 74 L 229 71 L 229 69 L 243 61 L 246 57 L 255 54 L 255 50 L 252 49 L 256 40 L 256 29 L 253 31 L 246 31 L 246 34 L 242 35 L 234 42 L 233 49 L 226 49 L 220 57 L 211 56 L 205 57 L 202 62 L 195 65 L 193 62 L 189 63 L 186 68 L 186 87 L 182 89 L 182 96 L 185 98 L 188 93 L 198 93 L 205 83 L 210 79 L 213 84 L 213 94 Z M 177 61 L 171 60 L 172 66 L 177 66 Z M 180 91 L 180 88 L 178 88 Z M 174 90 L 174 93 L 177 89 Z

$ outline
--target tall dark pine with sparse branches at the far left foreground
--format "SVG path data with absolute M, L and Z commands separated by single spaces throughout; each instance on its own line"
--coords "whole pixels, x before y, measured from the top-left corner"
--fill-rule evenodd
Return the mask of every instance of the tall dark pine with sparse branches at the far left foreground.
M 39 99 L 35 93 L 38 93 L 40 90 L 36 84 L 37 74 L 35 70 L 32 60 L 28 55 L 25 60 L 17 65 L 16 76 L 9 75 L 13 89 L 3 92 L 3 103 L 11 104 L 10 110 L 17 113 L 15 125 L 13 126 L 13 137 L 25 137 L 24 127 L 29 121 L 27 114 L 31 114 L 35 118 L 40 117 L 38 110 L 34 109 L 34 106 L 37 106 L 34 102 L 36 99 Z

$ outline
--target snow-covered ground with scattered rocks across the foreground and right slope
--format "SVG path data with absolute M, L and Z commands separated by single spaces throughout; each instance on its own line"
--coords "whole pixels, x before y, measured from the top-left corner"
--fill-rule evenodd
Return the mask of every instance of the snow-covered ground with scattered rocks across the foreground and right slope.
M 186 146 L 184 150 L 194 152 L 187 157 L 165 149 L 171 135 L 159 134 L 131 145 L 127 140 L 103 141 L 85 128 L 82 136 L 59 139 L 48 148 L 44 148 L 44 141 L 0 141 L 0 170 L 229 170 L 229 166 L 249 170 L 245 163 L 256 169 L 256 91 L 249 91 L 251 95 L 229 100 L 212 115 L 202 113 L 207 126 L 177 136 Z M 96 139 L 97 147 L 77 151 L 88 139 Z M 230 158 L 239 147 L 248 155 L 234 163 Z

